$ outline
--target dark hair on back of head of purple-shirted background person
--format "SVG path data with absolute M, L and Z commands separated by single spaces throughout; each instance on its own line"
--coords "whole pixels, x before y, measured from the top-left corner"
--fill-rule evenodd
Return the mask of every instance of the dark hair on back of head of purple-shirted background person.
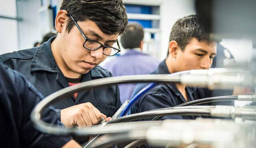
M 124 49 L 138 48 L 143 38 L 143 27 L 138 23 L 130 23 L 121 36 L 121 43 Z

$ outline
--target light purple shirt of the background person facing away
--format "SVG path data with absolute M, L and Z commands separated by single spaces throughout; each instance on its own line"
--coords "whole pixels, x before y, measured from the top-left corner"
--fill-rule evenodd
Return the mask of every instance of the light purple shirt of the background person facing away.
M 129 50 L 124 55 L 106 63 L 104 68 L 108 69 L 114 77 L 122 75 L 146 75 L 154 71 L 159 63 L 160 61 L 158 59 L 148 54 Z M 136 83 L 118 84 L 122 103 L 130 100 L 136 85 Z

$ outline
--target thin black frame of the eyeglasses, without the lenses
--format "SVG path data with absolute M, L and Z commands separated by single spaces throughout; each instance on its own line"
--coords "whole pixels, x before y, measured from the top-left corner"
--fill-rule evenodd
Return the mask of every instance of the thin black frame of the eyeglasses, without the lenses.
M 102 43 L 100 43 L 99 41 L 96 41 L 96 40 L 94 40 L 94 39 L 90 39 L 89 37 L 87 37 L 85 34 L 84 34 L 84 32 L 81 30 L 81 28 L 79 27 L 79 25 L 77 24 L 77 22 L 76 22 L 76 20 L 74 20 L 74 18 L 71 16 L 71 15 L 69 15 L 70 16 L 70 18 L 72 18 L 72 20 L 74 21 L 74 23 L 75 23 L 75 25 L 76 25 L 76 27 L 78 28 L 78 30 L 79 30 L 79 32 L 82 34 L 82 36 L 84 37 L 84 39 L 85 39 L 85 41 L 84 41 L 84 43 L 83 43 L 83 47 L 84 47 L 84 44 L 86 43 L 86 41 L 88 41 L 88 40 L 90 40 L 90 41 L 95 41 L 96 43 L 99 43 L 100 44 L 100 46 L 98 47 L 98 49 L 100 49 L 101 47 L 103 47 L 103 50 L 102 50 L 102 54 L 104 54 L 104 55 L 106 55 L 105 53 L 103 53 L 103 51 L 104 51 L 104 49 L 105 48 L 114 48 L 114 49 L 117 49 L 117 48 L 115 48 L 115 47 L 112 47 L 112 46 L 108 46 L 108 45 L 103 45 Z M 116 41 L 116 43 L 117 43 L 117 46 L 118 46 L 118 52 L 120 52 L 121 50 L 120 50 L 120 46 L 119 46 L 119 43 L 118 43 L 118 40 Z M 86 47 L 84 47 L 85 49 L 88 49 L 88 48 L 86 48 Z M 88 50 L 91 50 L 91 51 L 96 51 L 96 50 L 98 50 L 98 49 L 88 49 Z M 118 53 L 117 52 L 117 53 Z M 117 53 L 115 53 L 114 55 L 116 55 Z M 107 55 L 107 56 L 114 56 L 114 55 Z

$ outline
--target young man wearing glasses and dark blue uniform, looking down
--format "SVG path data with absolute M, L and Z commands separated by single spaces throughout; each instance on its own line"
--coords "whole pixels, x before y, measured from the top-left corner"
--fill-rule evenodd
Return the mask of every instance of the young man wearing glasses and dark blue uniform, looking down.
M 117 38 L 127 23 L 122 0 L 63 0 L 55 19 L 56 37 L 40 47 L 1 55 L 0 60 L 48 96 L 71 85 L 110 77 L 98 64 L 120 51 Z M 96 124 L 120 105 L 117 85 L 74 93 L 53 103 L 66 128 Z

